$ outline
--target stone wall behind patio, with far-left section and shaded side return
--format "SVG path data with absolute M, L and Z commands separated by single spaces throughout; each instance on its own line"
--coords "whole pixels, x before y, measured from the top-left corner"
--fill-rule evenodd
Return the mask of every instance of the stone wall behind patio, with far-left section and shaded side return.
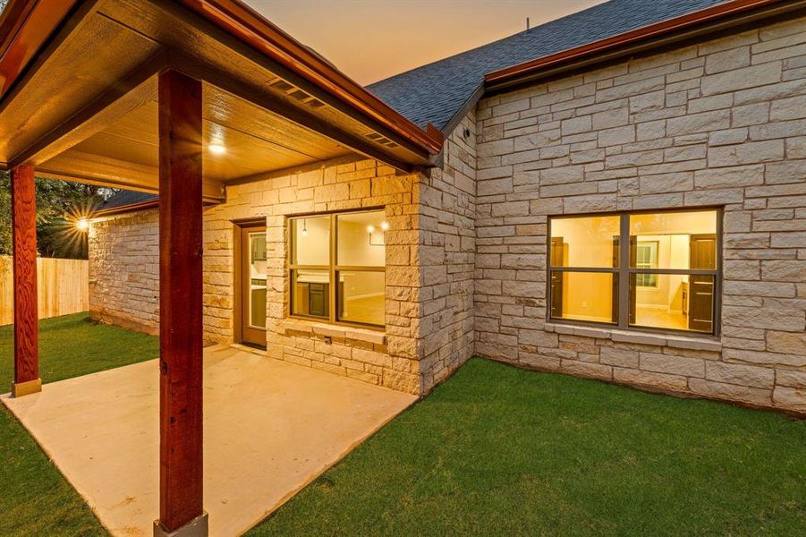
M 235 337 L 234 223 L 267 226 L 267 354 L 388 388 L 421 394 L 473 349 L 475 126 L 446 144 L 444 170 L 400 175 L 374 160 L 344 158 L 227 187 L 204 214 L 204 334 Z M 422 200 L 422 202 L 420 202 Z M 386 209 L 386 330 L 288 318 L 288 218 Z M 157 209 L 109 217 L 90 232 L 92 315 L 158 331 Z

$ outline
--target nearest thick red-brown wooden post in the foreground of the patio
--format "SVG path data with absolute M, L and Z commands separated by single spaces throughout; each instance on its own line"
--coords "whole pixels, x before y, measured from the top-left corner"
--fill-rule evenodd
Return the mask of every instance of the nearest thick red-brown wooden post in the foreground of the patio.
M 159 520 L 208 534 L 202 507 L 201 82 L 159 75 Z

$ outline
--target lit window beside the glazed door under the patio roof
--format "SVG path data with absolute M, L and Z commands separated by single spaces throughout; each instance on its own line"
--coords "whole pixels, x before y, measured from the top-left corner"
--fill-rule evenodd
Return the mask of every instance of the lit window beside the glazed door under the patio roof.
M 291 219 L 291 314 L 383 326 L 386 304 L 385 212 Z

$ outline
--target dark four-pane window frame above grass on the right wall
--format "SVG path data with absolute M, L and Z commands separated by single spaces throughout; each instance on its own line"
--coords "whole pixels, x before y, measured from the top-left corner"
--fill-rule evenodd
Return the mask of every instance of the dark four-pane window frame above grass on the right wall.
M 715 212 L 717 217 L 717 252 L 716 268 L 714 269 L 691 269 L 691 268 L 632 268 L 630 267 L 630 217 L 633 215 L 654 215 L 664 213 L 691 213 L 691 212 Z M 723 251 L 723 207 L 681 207 L 677 209 L 641 209 L 632 211 L 609 211 L 596 213 L 573 213 L 556 214 L 547 218 L 547 250 L 546 250 L 546 321 L 552 323 L 574 324 L 597 328 L 615 328 L 619 330 L 630 330 L 635 332 L 649 332 L 661 334 L 674 334 L 688 337 L 712 337 L 717 338 L 722 328 L 722 251 Z M 551 224 L 559 218 L 573 217 L 619 217 L 619 251 L 618 267 L 552 267 L 551 260 Z M 625 247 L 626 245 L 626 247 Z M 605 273 L 612 274 L 618 278 L 618 296 L 612 300 L 618 302 L 617 322 L 598 322 L 593 320 L 563 319 L 551 316 L 551 276 L 556 272 L 583 272 L 583 273 Z M 711 332 L 699 332 L 695 330 L 682 330 L 675 328 L 643 327 L 630 324 L 630 277 L 632 274 L 657 274 L 657 275 L 683 275 L 683 276 L 712 276 L 714 277 L 714 321 Z

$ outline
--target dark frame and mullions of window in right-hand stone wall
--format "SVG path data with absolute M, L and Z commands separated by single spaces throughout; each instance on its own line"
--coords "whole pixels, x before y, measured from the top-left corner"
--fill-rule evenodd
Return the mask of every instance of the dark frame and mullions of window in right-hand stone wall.
M 677 212 L 692 212 L 692 211 L 715 211 L 717 213 L 717 265 L 714 270 L 674 270 L 674 269 L 647 269 L 647 268 L 633 268 L 629 263 L 629 248 L 624 248 L 624 244 L 629 241 L 624 241 L 625 238 L 629 239 L 630 236 L 630 217 L 633 215 L 646 215 L 658 213 L 677 213 Z M 578 326 L 590 327 L 591 329 L 602 329 L 606 332 L 618 333 L 634 333 L 638 338 L 642 335 L 650 337 L 658 334 L 658 341 L 664 338 L 664 335 L 670 337 L 682 337 L 684 340 L 702 340 L 702 341 L 719 341 L 720 330 L 722 325 L 722 281 L 723 281 L 723 218 L 725 215 L 724 206 L 697 206 L 697 207 L 680 207 L 672 209 L 639 209 L 639 210 L 616 210 L 604 212 L 590 212 L 590 213 L 574 213 L 574 214 L 553 214 L 547 217 L 546 240 L 548 251 L 546 254 L 546 322 L 547 326 Z M 566 217 L 619 217 L 620 218 L 620 243 L 622 247 L 619 251 L 619 266 L 615 268 L 573 268 L 573 267 L 552 267 L 550 259 L 550 244 L 551 244 L 551 223 L 555 218 Z M 649 272 L 655 274 L 700 274 L 711 273 L 714 277 L 714 303 L 713 303 L 713 331 L 710 333 L 697 332 L 690 330 L 680 330 L 674 328 L 657 328 L 657 327 L 644 327 L 644 326 L 631 326 L 627 322 L 627 308 L 623 305 L 619 306 L 618 310 L 618 323 L 609 324 L 605 322 L 591 321 L 591 320 L 573 320 L 573 319 L 557 319 L 551 316 L 551 275 L 552 271 L 563 272 L 600 272 L 607 274 L 618 275 L 619 288 L 618 296 L 615 299 L 619 304 L 629 303 L 629 283 L 626 281 L 625 275 L 638 272 Z M 624 281 L 624 283 L 622 283 Z M 658 345 L 658 344 L 654 344 Z M 721 347 L 721 345 L 720 345 Z

